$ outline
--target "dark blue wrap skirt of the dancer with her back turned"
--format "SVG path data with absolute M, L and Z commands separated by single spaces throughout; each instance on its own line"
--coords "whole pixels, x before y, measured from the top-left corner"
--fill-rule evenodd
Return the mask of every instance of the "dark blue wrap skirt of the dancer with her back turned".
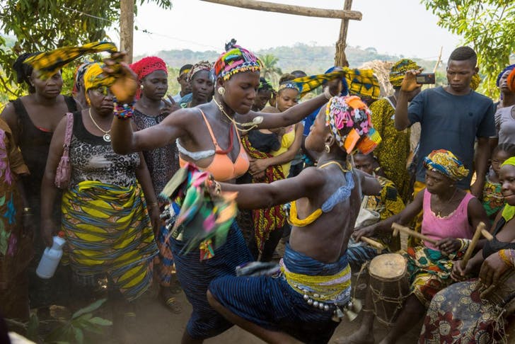
M 335 263 L 322 263 L 287 245 L 283 262 L 294 273 L 335 275 L 347 267 L 347 256 Z M 219 277 L 211 282 L 209 292 L 233 314 L 304 343 L 328 343 L 339 324 L 332 321 L 334 306 L 324 311 L 308 305 L 303 294 L 292 289 L 282 276 Z

